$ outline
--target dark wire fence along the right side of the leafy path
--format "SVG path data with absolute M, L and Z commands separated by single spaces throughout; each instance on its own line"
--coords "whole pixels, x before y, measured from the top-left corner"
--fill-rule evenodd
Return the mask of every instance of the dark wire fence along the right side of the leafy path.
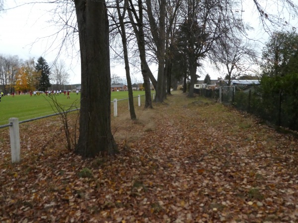
M 298 93 L 264 93 L 260 86 L 251 86 L 245 90 L 235 87 L 195 90 L 200 96 L 254 114 L 273 125 L 298 130 Z

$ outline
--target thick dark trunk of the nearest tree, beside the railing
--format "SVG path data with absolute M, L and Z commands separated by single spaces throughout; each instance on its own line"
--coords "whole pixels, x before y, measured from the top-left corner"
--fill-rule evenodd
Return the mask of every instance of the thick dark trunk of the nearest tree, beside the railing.
M 74 0 L 81 57 L 79 138 L 75 153 L 112 155 L 109 23 L 104 0 Z

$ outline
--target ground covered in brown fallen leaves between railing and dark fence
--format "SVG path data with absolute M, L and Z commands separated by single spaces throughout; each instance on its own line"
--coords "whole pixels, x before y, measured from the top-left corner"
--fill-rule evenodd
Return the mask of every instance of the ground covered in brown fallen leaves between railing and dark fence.
M 82 160 L 59 119 L 0 131 L 0 222 L 298 222 L 298 140 L 200 97 L 112 118 L 120 154 Z M 128 113 L 128 111 L 127 111 Z

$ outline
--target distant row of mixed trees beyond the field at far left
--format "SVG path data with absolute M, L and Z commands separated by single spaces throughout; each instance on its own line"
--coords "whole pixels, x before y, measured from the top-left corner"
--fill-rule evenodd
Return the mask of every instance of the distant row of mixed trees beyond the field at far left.
M 51 79 L 62 89 L 68 77 L 63 61 L 56 62 L 51 69 L 43 57 L 35 62 L 33 58 L 23 61 L 18 56 L 0 55 L 0 85 L 5 93 L 46 91 Z

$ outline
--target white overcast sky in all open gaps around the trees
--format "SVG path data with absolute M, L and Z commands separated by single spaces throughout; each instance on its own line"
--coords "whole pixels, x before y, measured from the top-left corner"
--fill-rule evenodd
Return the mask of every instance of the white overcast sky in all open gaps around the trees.
M 28 2 L 28 0 L 4 0 L 4 8 L 11 8 L 15 5 L 20 5 L 22 2 Z M 252 2 L 252 0 L 247 0 Z M 2 55 L 17 55 L 24 60 L 34 57 L 35 61 L 39 56 L 43 56 L 49 65 L 55 60 L 58 51 L 55 48 L 50 47 L 52 41 L 45 38 L 55 33 L 55 27 L 51 27 L 48 20 L 51 19 L 51 15 L 48 13 L 51 7 L 55 4 L 31 4 L 23 5 L 13 9 L 9 9 L 6 12 L 0 14 L 0 54 Z M 254 31 L 250 33 L 253 38 L 263 38 L 263 31 L 260 31 L 259 20 L 256 13 L 251 11 L 252 6 L 244 4 L 243 17 L 247 19 L 247 22 L 254 27 Z M 39 39 L 39 40 L 38 40 Z M 261 39 L 265 42 L 264 38 Z M 56 42 L 56 45 L 59 43 Z M 261 46 L 260 46 L 261 48 Z M 49 50 L 50 49 L 50 50 Z M 61 59 L 65 60 L 70 74 L 69 83 L 80 83 L 80 64 L 79 58 L 72 58 L 72 56 L 62 55 Z M 154 76 L 157 76 L 156 69 L 152 68 Z M 223 74 L 212 71 L 208 65 L 205 66 L 206 72 L 209 73 L 212 79 L 222 77 Z M 111 73 L 116 73 L 118 76 L 125 76 L 124 64 L 119 64 L 115 68 L 111 68 Z M 132 78 L 134 80 L 142 81 L 142 75 L 134 74 Z M 201 75 L 200 79 L 204 79 L 206 74 Z

